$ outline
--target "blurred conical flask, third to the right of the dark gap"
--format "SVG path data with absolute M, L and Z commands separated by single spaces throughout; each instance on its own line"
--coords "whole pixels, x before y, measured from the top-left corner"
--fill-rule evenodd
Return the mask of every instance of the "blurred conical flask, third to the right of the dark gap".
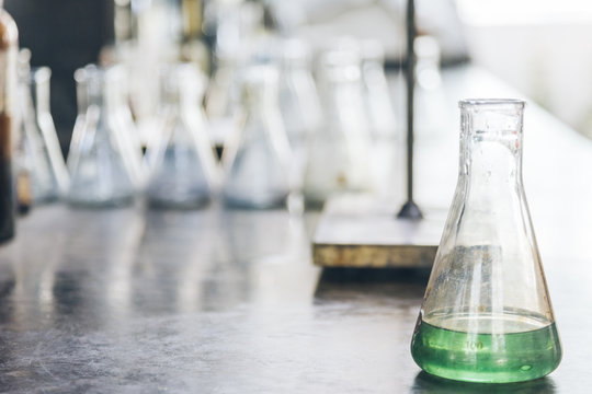
M 242 76 L 243 126 L 225 147 L 224 198 L 241 208 L 273 208 L 289 194 L 289 143 L 277 106 L 277 69 L 251 66 Z

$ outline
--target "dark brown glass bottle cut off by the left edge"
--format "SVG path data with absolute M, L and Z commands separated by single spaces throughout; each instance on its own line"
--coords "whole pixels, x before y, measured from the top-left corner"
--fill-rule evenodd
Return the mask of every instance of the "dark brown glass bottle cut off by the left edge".
M 14 236 L 12 150 L 19 31 L 0 0 L 0 242 Z

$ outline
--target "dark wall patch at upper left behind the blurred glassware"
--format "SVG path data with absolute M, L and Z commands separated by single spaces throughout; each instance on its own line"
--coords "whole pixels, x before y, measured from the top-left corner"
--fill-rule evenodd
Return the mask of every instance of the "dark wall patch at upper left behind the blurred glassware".
M 4 0 L 32 66 L 52 68 L 52 114 L 62 151 L 76 119 L 73 72 L 113 42 L 113 0 Z

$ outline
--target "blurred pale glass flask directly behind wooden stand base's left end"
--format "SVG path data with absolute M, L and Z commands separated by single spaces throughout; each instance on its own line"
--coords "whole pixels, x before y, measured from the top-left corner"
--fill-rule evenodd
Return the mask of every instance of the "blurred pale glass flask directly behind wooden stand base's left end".
M 372 188 L 371 134 L 362 99 L 360 54 L 330 50 L 320 59 L 323 126 L 311 138 L 303 194 L 309 207 L 333 193 Z

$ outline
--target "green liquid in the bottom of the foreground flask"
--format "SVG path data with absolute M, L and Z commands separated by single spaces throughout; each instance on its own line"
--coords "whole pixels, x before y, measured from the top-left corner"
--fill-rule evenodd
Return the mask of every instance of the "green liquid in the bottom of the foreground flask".
M 522 333 L 468 334 L 422 321 L 411 355 L 425 372 L 441 378 L 509 383 L 550 373 L 561 360 L 561 346 L 555 323 Z

